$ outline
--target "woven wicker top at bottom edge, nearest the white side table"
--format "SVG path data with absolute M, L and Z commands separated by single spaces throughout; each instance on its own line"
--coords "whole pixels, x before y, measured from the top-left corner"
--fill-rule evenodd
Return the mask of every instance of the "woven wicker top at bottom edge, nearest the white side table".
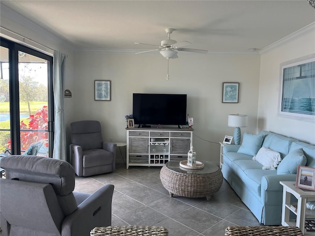
M 303 236 L 298 227 L 291 226 L 229 226 L 225 236 Z

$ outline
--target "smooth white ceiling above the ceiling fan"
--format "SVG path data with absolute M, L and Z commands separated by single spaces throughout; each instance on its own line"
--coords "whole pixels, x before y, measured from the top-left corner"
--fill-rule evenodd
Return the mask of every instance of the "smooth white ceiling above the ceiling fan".
M 79 49 L 150 50 L 167 38 L 210 52 L 263 49 L 315 22 L 307 0 L 1 0 Z

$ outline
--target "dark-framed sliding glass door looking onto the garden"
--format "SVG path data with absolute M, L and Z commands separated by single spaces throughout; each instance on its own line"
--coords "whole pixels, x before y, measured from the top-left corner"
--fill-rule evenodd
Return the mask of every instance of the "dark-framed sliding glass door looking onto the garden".
M 52 57 L 1 38 L 0 153 L 52 156 Z

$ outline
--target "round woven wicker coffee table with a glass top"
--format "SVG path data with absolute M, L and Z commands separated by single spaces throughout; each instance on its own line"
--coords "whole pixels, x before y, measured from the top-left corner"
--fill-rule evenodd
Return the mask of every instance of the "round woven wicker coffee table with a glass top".
M 173 194 L 189 198 L 206 197 L 209 201 L 216 193 L 223 181 L 220 168 L 208 161 L 204 168 L 191 170 L 180 167 L 179 161 L 169 161 L 161 169 L 159 177 L 169 195 Z

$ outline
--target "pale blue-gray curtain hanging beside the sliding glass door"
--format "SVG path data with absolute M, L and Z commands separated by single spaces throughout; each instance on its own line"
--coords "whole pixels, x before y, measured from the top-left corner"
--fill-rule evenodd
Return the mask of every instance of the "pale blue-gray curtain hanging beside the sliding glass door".
M 54 51 L 53 84 L 55 98 L 55 139 L 53 158 L 66 161 L 66 139 L 63 118 L 64 58 L 65 55 L 58 51 Z

